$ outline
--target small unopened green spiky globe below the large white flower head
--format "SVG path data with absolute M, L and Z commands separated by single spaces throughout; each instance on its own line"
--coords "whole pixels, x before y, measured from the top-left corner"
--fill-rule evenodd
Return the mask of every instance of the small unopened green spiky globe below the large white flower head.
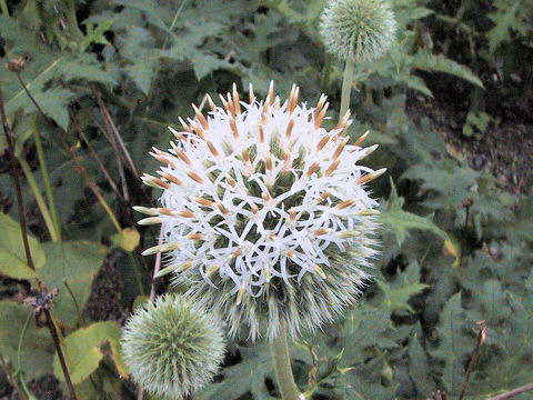
M 150 393 L 172 400 L 213 378 L 225 346 L 220 321 L 173 294 L 139 308 L 128 320 L 121 343 L 132 379 Z

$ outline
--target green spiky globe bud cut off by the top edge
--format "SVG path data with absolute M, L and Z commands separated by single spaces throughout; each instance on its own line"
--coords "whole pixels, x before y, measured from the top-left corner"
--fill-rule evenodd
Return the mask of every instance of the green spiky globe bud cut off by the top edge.
M 342 60 L 379 58 L 391 47 L 395 30 L 386 0 L 330 0 L 320 23 L 326 51 Z

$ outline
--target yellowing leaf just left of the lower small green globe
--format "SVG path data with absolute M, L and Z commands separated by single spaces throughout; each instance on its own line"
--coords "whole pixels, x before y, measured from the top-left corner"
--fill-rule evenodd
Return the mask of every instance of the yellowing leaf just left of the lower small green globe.
M 122 330 L 115 321 L 104 321 L 79 329 L 64 338 L 64 354 L 72 383 L 78 384 L 89 378 L 104 356 L 110 356 L 119 373 L 127 376 L 127 369 L 120 358 L 121 334 Z M 57 353 L 53 357 L 53 373 L 64 381 Z

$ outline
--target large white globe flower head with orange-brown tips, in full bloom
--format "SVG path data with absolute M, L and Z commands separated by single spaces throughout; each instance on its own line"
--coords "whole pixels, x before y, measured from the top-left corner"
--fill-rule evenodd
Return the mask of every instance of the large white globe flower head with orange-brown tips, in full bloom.
M 378 213 L 364 184 L 384 172 L 359 161 L 362 148 L 344 136 L 349 113 L 322 128 L 328 103 L 298 104 L 299 88 L 281 104 L 272 84 L 264 101 L 233 93 L 210 98 L 205 117 L 182 121 L 172 149 L 154 149 L 163 208 L 135 208 L 162 223 L 168 251 L 163 273 L 188 294 L 224 317 L 230 334 L 276 337 L 280 326 L 296 337 L 351 304 L 375 254 Z

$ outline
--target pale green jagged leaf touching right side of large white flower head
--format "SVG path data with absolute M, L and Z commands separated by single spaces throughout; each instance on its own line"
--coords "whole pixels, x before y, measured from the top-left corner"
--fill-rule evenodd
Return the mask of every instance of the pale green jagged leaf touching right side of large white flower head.
M 383 204 L 384 210 L 381 212 L 380 220 L 388 231 L 394 233 L 398 246 L 402 244 L 411 229 L 429 230 L 442 239 L 447 238 L 446 233 L 436 227 L 430 218 L 403 211 L 404 201 L 403 198 L 398 196 L 396 188 L 391 180 L 391 194 Z

